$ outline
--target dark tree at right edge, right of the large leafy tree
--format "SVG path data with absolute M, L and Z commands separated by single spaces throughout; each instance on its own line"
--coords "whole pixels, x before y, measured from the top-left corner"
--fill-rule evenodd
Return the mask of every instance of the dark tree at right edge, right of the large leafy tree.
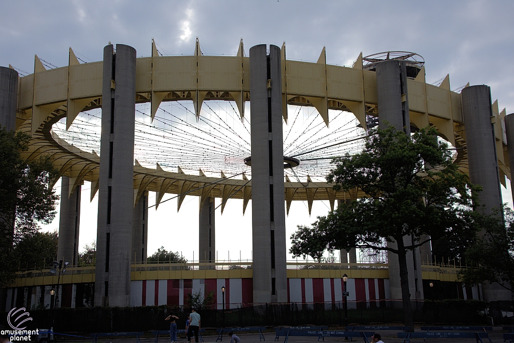
M 497 282 L 514 292 L 514 212 L 505 207 L 505 223 L 498 218 L 497 213 L 482 218 L 483 231 L 464 254 L 461 278 L 469 285 Z

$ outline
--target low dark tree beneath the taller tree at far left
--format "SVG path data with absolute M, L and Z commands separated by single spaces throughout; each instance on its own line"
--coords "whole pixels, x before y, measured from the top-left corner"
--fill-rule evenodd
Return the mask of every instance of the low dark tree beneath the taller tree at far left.
M 13 257 L 20 269 L 43 269 L 57 256 L 57 231 L 23 235 L 14 245 Z

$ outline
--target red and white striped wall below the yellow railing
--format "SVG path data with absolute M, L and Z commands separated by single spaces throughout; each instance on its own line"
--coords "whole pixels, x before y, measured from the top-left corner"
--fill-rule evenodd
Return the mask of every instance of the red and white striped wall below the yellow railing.
M 339 278 L 289 278 L 288 302 L 343 301 L 344 282 Z M 212 293 L 217 309 L 223 308 L 222 287 L 225 286 L 225 308 L 251 306 L 253 280 L 238 279 L 179 279 L 131 281 L 131 306 L 183 306 L 188 294 Z M 348 279 L 348 300 L 368 302 L 389 299 L 389 279 Z M 350 308 L 356 306 L 350 304 Z

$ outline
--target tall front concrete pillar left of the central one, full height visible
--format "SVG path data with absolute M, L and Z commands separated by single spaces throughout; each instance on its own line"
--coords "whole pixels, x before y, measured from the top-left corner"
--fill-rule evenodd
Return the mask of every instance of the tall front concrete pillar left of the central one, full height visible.
M 136 50 L 103 50 L 95 306 L 130 305 Z

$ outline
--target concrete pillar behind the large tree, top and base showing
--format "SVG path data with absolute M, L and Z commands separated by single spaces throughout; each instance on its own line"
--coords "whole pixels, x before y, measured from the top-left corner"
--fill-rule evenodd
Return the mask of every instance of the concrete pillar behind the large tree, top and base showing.
M 377 101 L 378 125 L 386 128 L 393 125 L 410 135 L 409 97 L 407 91 L 407 69 L 405 62 L 383 61 L 377 64 Z M 388 125 L 386 125 L 388 122 Z M 413 243 L 411 236 L 403 237 L 406 245 Z M 397 243 L 388 246 L 397 248 Z M 400 266 L 398 255 L 388 252 L 389 283 L 392 299 L 401 299 Z M 419 247 L 407 252 L 407 268 L 409 273 L 409 292 L 411 299 L 423 299 L 423 281 L 421 280 L 421 258 Z

